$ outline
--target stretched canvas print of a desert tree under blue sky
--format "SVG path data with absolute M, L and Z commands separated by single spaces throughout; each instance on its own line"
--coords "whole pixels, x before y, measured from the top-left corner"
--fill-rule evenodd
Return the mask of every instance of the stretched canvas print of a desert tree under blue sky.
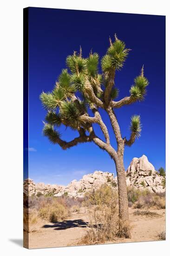
M 24 247 L 165 240 L 165 16 L 24 9 Z

